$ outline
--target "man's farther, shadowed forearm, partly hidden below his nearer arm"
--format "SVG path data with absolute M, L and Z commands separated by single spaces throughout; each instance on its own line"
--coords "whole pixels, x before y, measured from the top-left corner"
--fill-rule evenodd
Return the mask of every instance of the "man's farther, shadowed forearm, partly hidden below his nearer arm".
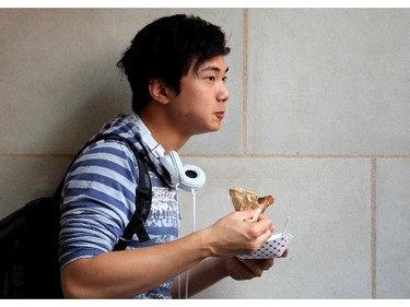
M 188 297 L 191 297 L 226 276 L 224 258 L 208 258 L 191 268 L 189 274 L 185 272 L 180 274 L 179 280 L 175 279 L 173 297 L 186 298 L 186 288 L 188 288 Z

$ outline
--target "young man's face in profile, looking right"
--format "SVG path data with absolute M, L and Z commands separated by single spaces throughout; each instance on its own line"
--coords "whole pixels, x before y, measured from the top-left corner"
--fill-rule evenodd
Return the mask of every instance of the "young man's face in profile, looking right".
M 225 103 L 227 66 L 222 56 L 212 58 L 180 80 L 180 93 L 171 97 L 169 108 L 179 131 L 190 137 L 221 128 Z

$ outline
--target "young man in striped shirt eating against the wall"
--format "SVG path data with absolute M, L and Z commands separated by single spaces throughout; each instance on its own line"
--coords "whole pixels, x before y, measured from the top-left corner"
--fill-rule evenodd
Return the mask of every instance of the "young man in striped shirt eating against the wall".
M 233 212 L 186 237 L 177 234 L 180 182 L 173 182 L 163 157 L 190 137 L 220 129 L 230 98 L 229 52 L 220 27 L 173 15 L 147 25 L 124 54 L 118 66 L 132 88 L 133 114 L 117 117 L 99 133 L 120 134 L 144 155 L 153 186 L 145 223 L 151 240 L 136 236 L 127 250 L 110 252 L 139 203 L 138 167 L 120 141 L 91 145 L 73 164 L 62 193 L 60 265 L 67 297 L 178 297 L 188 270 L 191 296 L 226 276 L 248 280 L 273 265 L 272 259 L 235 257 L 256 250 L 274 231 L 262 214 L 255 224 L 244 222 L 258 210 Z M 177 276 L 180 283 L 174 283 Z

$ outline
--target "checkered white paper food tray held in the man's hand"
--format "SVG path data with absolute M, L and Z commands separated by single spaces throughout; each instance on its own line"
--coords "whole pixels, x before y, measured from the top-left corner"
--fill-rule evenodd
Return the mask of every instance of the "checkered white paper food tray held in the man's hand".
M 271 235 L 270 238 L 266 243 L 263 243 L 253 255 L 238 255 L 236 257 L 239 259 L 280 258 L 286 250 L 286 247 L 292 238 L 293 236 L 291 234 L 285 234 L 283 237 L 282 233 Z

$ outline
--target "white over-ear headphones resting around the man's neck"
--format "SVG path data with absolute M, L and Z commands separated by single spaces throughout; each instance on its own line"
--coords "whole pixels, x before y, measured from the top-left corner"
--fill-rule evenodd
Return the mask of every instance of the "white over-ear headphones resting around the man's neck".
M 180 187 L 186 191 L 202 188 L 207 181 L 203 170 L 196 165 L 183 165 L 179 155 L 175 151 L 171 151 L 169 154 L 164 155 L 164 149 L 152 138 L 151 132 L 147 129 L 140 117 L 136 117 L 142 141 L 168 172 L 171 185 L 173 187 Z

